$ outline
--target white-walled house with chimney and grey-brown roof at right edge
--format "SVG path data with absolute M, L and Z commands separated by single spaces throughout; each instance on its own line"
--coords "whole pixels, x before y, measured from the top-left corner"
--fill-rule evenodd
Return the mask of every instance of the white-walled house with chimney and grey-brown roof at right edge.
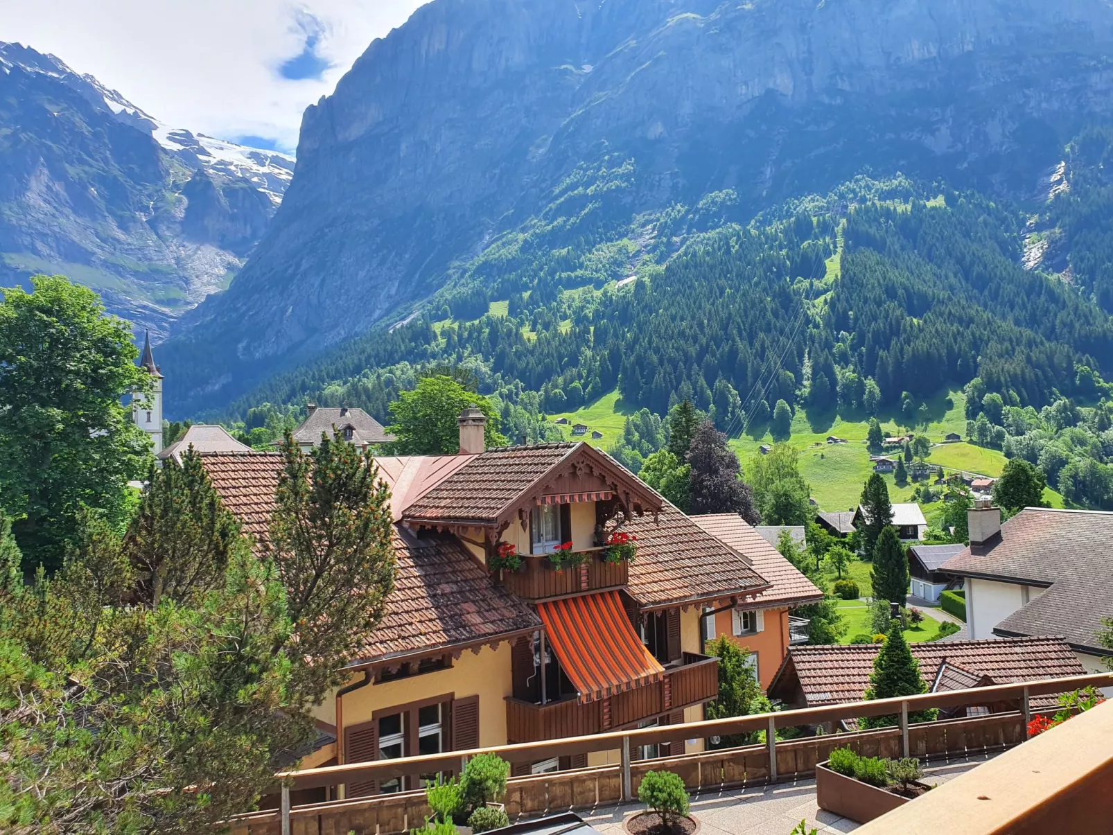
M 1002 524 L 988 499 L 966 513 L 971 543 L 942 570 L 964 579 L 971 638 L 1063 636 L 1083 667 L 1103 671 L 1113 513 L 1025 508 Z

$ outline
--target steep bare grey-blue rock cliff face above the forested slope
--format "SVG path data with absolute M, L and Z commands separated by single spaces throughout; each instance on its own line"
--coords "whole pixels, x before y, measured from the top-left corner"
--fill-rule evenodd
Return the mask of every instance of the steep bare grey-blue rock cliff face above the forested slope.
M 1111 48 L 1102 0 L 434 0 L 307 109 L 247 267 L 164 346 L 171 405 L 401 318 L 605 155 L 631 216 L 864 169 L 1025 194 L 1109 115 Z

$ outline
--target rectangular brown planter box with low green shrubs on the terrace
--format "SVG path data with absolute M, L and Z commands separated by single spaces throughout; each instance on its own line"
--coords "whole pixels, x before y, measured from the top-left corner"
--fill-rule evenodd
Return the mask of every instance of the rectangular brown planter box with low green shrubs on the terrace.
M 914 757 L 881 759 L 836 748 L 816 766 L 816 799 L 819 808 L 865 824 L 930 789 L 923 776 Z

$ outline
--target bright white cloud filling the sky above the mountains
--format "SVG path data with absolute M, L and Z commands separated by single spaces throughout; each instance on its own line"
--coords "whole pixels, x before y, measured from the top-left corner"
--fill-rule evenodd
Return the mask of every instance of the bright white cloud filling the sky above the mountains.
M 0 40 L 52 52 L 175 127 L 293 149 L 305 107 L 424 1 L 0 0 Z M 283 78 L 313 31 L 327 69 Z

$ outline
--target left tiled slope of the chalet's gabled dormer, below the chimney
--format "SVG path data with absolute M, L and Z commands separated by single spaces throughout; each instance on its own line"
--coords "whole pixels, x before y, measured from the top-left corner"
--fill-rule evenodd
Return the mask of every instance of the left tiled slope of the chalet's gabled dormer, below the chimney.
M 542 478 L 579 443 L 505 446 L 470 456 L 462 466 L 405 511 L 407 518 L 494 521 L 511 502 Z

